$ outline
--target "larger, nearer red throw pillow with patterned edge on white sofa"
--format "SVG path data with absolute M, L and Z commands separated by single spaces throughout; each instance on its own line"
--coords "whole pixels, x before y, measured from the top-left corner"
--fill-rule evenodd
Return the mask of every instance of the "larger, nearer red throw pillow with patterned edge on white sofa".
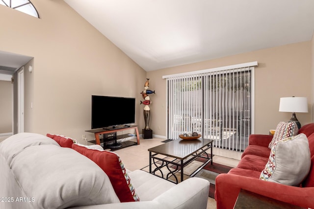
M 135 188 L 131 184 L 131 179 L 126 172 L 120 157 L 116 153 L 105 150 L 89 149 L 78 144 L 72 144 L 72 149 L 86 156 L 103 169 L 109 177 L 120 202 L 139 201 L 139 198 L 135 193 Z

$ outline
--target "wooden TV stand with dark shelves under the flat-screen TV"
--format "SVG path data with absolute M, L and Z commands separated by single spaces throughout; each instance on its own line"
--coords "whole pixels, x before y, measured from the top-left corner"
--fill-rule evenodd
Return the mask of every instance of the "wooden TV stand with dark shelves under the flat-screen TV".
M 128 126 L 115 126 L 114 129 L 98 128 L 98 129 L 87 130 L 86 132 L 94 133 L 95 134 L 95 140 L 96 140 L 95 143 L 100 145 L 99 135 L 118 132 L 118 131 L 125 131 L 125 130 L 129 130 L 129 129 L 135 129 L 136 142 L 135 141 L 121 142 L 121 147 L 118 147 L 118 148 L 123 148 L 123 147 L 131 146 L 131 145 L 139 144 L 139 133 L 138 133 L 138 129 L 137 129 L 136 125 L 129 125 L 129 127 Z M 127 134 L 127 135 L 118 135 L 117 136 L 117 138 L 119 138 L 119 139 L 126 138 L 126 137 L 129 137 L 129 135 Z M 92 141 L 90 141 L 90 142 L 92 142 Z M 115 139 L 115 143 L 116 143 L 116 139 Z M 110 147 L 108 147 L 108 148 L 110 148 Z M 117 148 L 110 148 L 110 149 L 112 150 L 112 149 L 117 149 Z

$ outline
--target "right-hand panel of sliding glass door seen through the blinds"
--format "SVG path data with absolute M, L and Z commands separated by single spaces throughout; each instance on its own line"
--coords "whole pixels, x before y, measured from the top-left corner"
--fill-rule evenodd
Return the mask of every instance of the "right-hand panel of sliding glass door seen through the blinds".
M 204 86 L 203 137 L 216 147 L 243 150 L 251 134 L 251 71 L 209 73 Z

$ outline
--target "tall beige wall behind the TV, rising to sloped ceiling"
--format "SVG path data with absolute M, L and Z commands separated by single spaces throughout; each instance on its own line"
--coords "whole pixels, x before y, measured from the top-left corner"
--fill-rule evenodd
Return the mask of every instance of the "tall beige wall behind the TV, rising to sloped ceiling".
M 146 71 L 63 0 L 32 0 L 40 19 L 0 5 L 0 50 L 34 57 L 25 70 L 25 131 L 81 139 L 91 128 L 91 95 L 136 97 Z M 31 109 L 31 103 L 33 108 Z M 140 105 L 136 124 L 144 126 Z

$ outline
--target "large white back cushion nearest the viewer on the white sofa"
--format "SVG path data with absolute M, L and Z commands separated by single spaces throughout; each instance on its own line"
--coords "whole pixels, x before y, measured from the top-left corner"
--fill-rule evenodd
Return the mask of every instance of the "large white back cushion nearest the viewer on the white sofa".
M 120 202 L 105 172 L 71 148 L 30 146 L 10 167 L 36 209 Z

